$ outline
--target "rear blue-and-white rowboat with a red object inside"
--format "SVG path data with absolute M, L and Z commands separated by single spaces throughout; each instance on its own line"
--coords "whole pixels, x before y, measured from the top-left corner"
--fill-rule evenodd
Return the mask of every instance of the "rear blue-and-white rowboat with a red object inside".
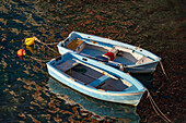
M 125 42 L 72 32 L 58 44 L 61 54 L 78 52 L 129 73 L 153 73 L 161 58 Z

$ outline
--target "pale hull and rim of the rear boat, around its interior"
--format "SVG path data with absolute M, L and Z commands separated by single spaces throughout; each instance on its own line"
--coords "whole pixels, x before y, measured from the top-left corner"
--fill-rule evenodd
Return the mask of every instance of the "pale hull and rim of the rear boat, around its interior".
M 156 65 L 159 64 L 159 62 L 161 60 L 161 58 L 156 57 L 155 54 L 153 54 L 153 53 L 151 53 L 151 52 L 149 52 L 149 51 L 147 51 L 144 49 L 138 48 L 136 46 L 131 46 L 131 45 L 128 45 L 128 44 L 125 44 L 125 42 L 119 42 L 117 40 L 111 40 L 111 39 L 98 37 L 98 36 L 78 33 L 78 32 L 72 32 L 65 41 L 67 41 L 68 39 L 73 39 L 73 38 L 83 38 L 83 39 L 89 38 L 89 40 L 98 40 L 98 41 L 101 41 L 103 44 L 108 44 L 109 42 L 109 45 L 129 48 L 129 49 L 132 49 L 136 52 L 139 52 L 140 54 L 143 54 L 143 56 L 146 56 L 146 57 L 148 57 L 150 59 L 153 59 L 153 61 L 148 62 L 148 63 L 126 65 L 125 66 L 125 72 L 128 72 L 128 73 L 153 73 L 155 71 L 155 69 L 156 69 Z M 59 42 L 58 46 L 57 46 L 58 51 L 61 54 L 65 54 L 67 52 L 74 52 L 71 49 L 65 48 L 63 42 Z

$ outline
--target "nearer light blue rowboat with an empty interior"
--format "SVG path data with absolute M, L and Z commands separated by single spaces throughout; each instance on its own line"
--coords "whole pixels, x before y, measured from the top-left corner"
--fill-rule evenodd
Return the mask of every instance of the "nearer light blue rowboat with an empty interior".
M 77 53 L 47 63 L 49 75 L 90 97 L 137 106 L 146 87 L 130 75 Z

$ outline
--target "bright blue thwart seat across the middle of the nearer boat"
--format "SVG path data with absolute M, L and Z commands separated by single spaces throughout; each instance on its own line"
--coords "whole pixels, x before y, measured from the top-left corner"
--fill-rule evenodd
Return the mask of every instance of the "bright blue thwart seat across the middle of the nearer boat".
M 105 81 L 107 81 L 108 78 L 111 78 L 109 76 L 107 75 L 103 75 L 101 76 L 100 78 L 97 78 L 96 81 L 90 83 L 89 85 L 90 86 L 93 86 L 93 87 L 97 87 L 98 85 L 103 84 Z

